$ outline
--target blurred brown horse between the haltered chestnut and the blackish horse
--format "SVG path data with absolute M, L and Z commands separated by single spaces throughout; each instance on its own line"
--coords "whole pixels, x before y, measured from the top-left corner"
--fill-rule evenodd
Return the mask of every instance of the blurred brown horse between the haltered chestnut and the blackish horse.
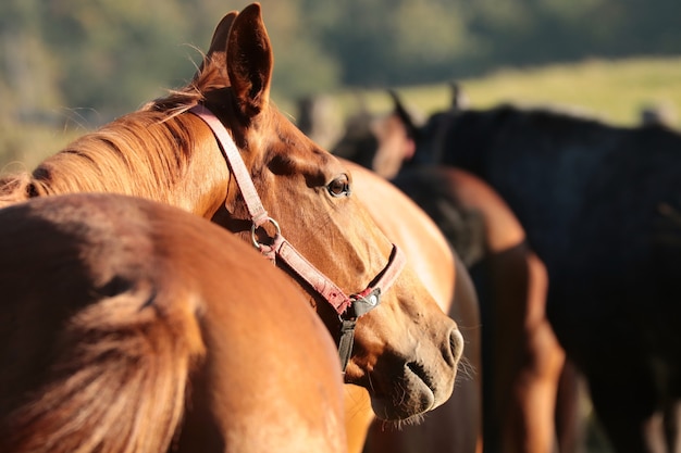
M 364 124 L 363 134 L 350 131 L 337 149 L 393 177 L 436 221 L 475 277 L 483 315 L 485 450 L 545 453 L 556 442 L 553 419 L 565 353 L 544 311 L 544 264 L 529 248 L 510 209 L 482 180 L 457 169 L 414 162 L 404 166 L 416 149 L 408 128 L 411 123 L 403 119 L 406 110 L 396 96 L 394 100 L 393 114 Z M 454 425 L 442 412 L 428 417 L 419 428 L 423 432 L 405 429 L 389 439 L 372 432 L 369 443 L 389 441 L 393 451 L 409 452 L 416 438 L 419 444 L 431 442 L 439 450 L 460 451 Z

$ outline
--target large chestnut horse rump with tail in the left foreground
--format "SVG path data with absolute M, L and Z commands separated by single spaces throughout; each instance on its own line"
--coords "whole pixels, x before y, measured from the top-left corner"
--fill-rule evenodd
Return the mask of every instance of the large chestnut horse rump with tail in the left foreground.
M 325 326 L 203 218 L 110 193 L 14 204 L 0 288 L 2 452 L 346 451 Z

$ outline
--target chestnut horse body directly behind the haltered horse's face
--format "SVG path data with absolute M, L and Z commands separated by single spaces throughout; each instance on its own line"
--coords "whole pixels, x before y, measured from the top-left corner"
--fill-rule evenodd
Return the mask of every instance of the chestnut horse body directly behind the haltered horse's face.
M 480 313 L 478 298 L 466 266 L 449 247 L 433 221 L 394 185 L 357 164 L 347 163 L 360 198 L 384 232 L 405 250 L 421 280 L 431 290 L 445 313 L 454 318 L 463 334 L 466 375 L 458 379 L 457 390 L 441 407 L 430 414 L 425 424 L 396 428 L 377 420 L 371 427 L 370 451 L 403 451 L 404 439 L 410 439 L 419 450 L 437 451 L 442 439 L 432 436 L 432 417 L 446 424 L 446 436 L 453 451 L 480 452 L 482 449 L 482 369 L 480 344 Z M 398 212 L 399 216 L 395 213 Z M 360 453 L 370 424 L 375 418 L 370 411 L 367 392 L 348 387 L 347 431 L 348 451 Z M 439 436 L 442 438 L 442 436 Z

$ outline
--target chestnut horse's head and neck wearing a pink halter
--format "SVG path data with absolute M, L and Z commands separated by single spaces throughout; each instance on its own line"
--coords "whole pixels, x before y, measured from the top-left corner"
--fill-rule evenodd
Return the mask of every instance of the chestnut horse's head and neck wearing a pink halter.
M 352 193 L 346 166 L 272 104 L 272 65 L 260 5 L 227 14 L 188 86 L 7 178 L 0 205 L 104 191 L 210 218 L 309 294 L 345 381 L 369 389 L 379 417 L 423 414 L 451 394 L 461 334 L 413 269 L 400 270 L 404 254 Z

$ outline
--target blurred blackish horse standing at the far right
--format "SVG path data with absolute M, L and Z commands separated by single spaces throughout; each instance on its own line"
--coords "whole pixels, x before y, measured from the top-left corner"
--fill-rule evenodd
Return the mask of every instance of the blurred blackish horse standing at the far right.
M 419 162 L 476 174 L 546 264 L 547 316 L 618 451 L 681 445 L 681 135 L 500 105 L 435 114 Z

